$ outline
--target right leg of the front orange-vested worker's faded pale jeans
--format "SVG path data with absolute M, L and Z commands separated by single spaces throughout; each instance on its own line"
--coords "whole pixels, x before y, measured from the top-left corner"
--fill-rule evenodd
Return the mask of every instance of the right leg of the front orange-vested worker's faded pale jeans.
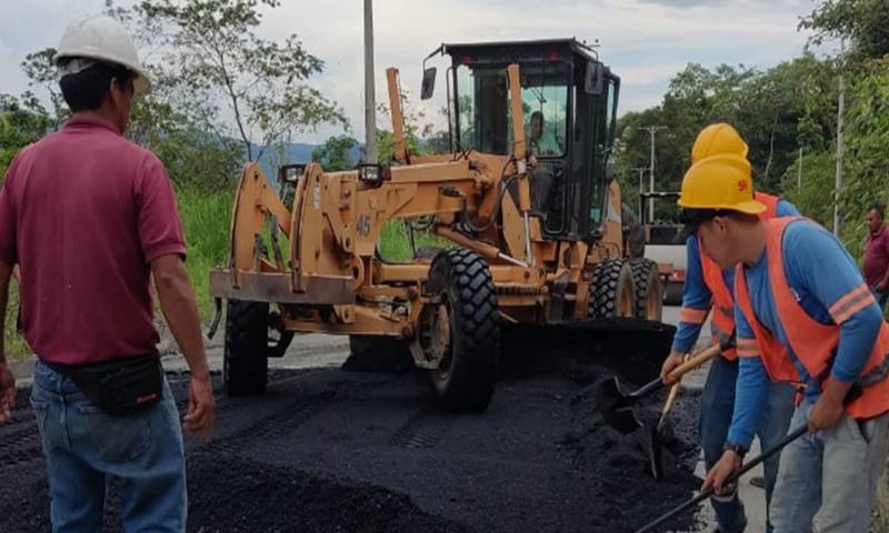
M 889 415 L 858 421 L 843 415 L 822 431 L 825 466 L 821 509 L 815 516 L 819 533 L 867 532 L 886 462 Z

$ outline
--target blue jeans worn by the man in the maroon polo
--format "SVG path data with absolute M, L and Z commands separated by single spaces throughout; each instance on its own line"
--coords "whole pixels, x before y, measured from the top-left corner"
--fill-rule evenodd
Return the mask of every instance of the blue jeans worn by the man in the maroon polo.
M 31 408 L 47 459 L 53 532 L 101 531 L 109 479 L 124 531 L 184 531 L 182 430 L 166 379 L 163 399 L 149 410 L 109 416 L 38 362 Z

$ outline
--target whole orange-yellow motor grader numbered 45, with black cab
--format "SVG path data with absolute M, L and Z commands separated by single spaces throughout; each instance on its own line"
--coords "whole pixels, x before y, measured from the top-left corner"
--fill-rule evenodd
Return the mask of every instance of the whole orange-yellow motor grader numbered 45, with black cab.
M 451 62 L 452 153 L 407 149 L 389 69 L 391 164 L 291 167 L 282 191 L 244 167 L 230 261 L 210 274 L 228 300 L 230 394 L 263 392 L 268 356 L 294 332 L 324 332 L 406 344 L 447 409 L 480 412 L 503 324 L 660 319 L 657 264 L 623 259 L 609 175 L 619 78 L 573 39 L 442 44 L 429 58 L 438 53 Z M 434 78 L 426 69 L 423 97 Z M 384 261 L 377 244 L 394 220 L 450 245 Z

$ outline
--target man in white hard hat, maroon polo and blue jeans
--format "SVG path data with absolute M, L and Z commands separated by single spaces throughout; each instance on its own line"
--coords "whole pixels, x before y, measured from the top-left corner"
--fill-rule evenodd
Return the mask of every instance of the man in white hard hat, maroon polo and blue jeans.
M 18 265 L 52 529 L 100 531 L 113 477 L 126 530 L 183 531 L 182 432 L 157 355 L 151 278 L 191 369 L 186 430 L 209 436 L 213 393 L 169 178 L 122 137 L 150 83 L 109 17 L 71 23 L 56 62 L 73 117 L 18 153 L 0 191 L 0 320 Z M 0 422 L 13 402 L 0 335 Z

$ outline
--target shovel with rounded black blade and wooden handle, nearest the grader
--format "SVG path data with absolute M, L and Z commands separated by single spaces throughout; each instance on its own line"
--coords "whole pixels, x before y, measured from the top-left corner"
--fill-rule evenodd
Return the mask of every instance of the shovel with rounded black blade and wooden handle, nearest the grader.
M 698 352 L 695 356 L 673 369 L 669 378 L 673 380 L 681 378 L 689 371 L 716 358 L 721 351 L 722 348 L 719 344 L 713 344 L 707 350 Z M 642 423 L 636 418 L 636 413 L 632 412 L 637 400 L 663 386 L 666 386 L 660 378 L 657 378 L 633 392 L 625 393 L 620 390 L 620 381 L 617 378 L 608 378 L 593 385 L 592 394 L 596 399 L 596 405 L 608 425 L 621 433 L 632 433 L 642 426 Z

